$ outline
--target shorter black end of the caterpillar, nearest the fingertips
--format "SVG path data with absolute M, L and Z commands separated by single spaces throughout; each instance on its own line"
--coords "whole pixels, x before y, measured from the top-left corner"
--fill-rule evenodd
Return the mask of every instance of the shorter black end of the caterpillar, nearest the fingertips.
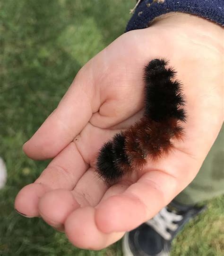
M 96 160 L 96 171 L 106 183 L 116 182 L 124 174 L 124 168 L 129 168 L 128 157 L 124 148 L 125 137 L 119 133 L 106 142 Z

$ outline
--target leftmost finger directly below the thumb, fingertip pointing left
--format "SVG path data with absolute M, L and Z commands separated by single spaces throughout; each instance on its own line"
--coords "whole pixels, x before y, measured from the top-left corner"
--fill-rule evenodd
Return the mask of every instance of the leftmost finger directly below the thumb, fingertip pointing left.
M 24 187 L 17 195 L 15 208 L 27 217 L 39 216 L 38 202 L 45 192 L 53 189 L 72 190 L 86 172 L 87 164 L 70 143 L 57 155 L 33 184 Z

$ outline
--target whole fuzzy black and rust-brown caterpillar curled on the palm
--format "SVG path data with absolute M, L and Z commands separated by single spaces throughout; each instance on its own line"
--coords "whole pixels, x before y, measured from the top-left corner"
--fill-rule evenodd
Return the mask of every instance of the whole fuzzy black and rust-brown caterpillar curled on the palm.
M 182 139 L 180 122 L 186 121 L 181 82 L 164 59 L 145 66 L 143 117 L 126 131 L 103 144 L 96 158 L 96 172 L 106 183 L 119 181 L 124 174 L 141 169 L 146 157 L 158 159 L 170 152 L 172 138 Z

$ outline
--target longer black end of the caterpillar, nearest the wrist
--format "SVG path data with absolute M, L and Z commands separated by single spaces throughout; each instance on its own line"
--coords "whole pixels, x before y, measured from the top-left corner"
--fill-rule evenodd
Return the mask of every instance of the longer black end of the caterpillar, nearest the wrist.
M 166 68 L 168 62 L 155 59 L 145 67 L 145 115 L 154 121 L 172 118 L 185 121 L 185 104 L 181 82 L 172 81 L 175 71 Z

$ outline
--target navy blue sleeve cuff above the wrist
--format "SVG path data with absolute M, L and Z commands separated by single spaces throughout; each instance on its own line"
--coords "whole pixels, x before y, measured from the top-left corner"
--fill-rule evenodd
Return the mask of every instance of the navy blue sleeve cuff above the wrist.
M 154 18 L 169 12 L 185 12 L 224 26 L 224 0 L 142 0 L 129 20 L 126 32 L 146 28 Z

